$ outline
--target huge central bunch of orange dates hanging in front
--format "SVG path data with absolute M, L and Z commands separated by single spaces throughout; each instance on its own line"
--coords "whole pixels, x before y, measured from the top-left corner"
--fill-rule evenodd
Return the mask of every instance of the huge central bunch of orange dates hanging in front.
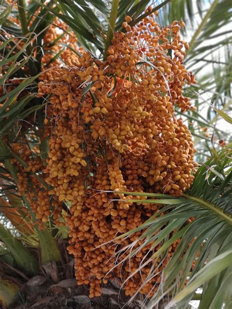
M 90 53 L 72 55 L 69 66 L 45 71 L 39 83 L 38 97 L 50 95 L 52 110 L 46 182 L 53 187 L 50 195 L 70 205 L 68 250 L 78 284 L 90 284 L 91 297 L 115 275 L 125 281 L 150 250 L 144 247 L 133 261 L 108 273 L 116 251 L 140 232 L 120 243 L 114 238 L 157 212 L 145 198 L 138 196 L 135 203 L 120 192 L 181 196 L 196 166 L 191 134 L 174 114 L 175 106 L 183 112 L 191 108 L 183 87 L 195 83 L 183 64 L 188 45 L 179 30 L 184 23 L 160 27 L 153 15 L 136 27 L 130 21 L 126 17 L 125 32 L 115 33 L 106 61 Z M 115 246 L 107 246 L 109 241 Z M 142 293 L 155 292 L 162 267 Z M 126 281 L 127 295 L 149 270 L 147 265 Z

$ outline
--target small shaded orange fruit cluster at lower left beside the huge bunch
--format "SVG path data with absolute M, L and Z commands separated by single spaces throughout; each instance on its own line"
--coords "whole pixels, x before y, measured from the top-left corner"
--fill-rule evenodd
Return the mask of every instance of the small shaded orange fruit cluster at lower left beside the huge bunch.
M 31 210 L 35 213 L 40 229 L 46 227 L 50 216 L 53 217 L 57 226 L 62 225 L 59 219 L 62 218 L 62 203 L 56 196 L 51 197 L 45 182 L 45 175 L 42 173 L 43 161 L 38 155 L 39 149 L 29 149 L 27 145 L 18 143 L 11 144 L 15 155 L 20 157 L 11 160 L 18 171 L 17 187 L 20 196 L 24 196 L 30 204 Z M 30 217 L 30 214 L 27 214 Z

